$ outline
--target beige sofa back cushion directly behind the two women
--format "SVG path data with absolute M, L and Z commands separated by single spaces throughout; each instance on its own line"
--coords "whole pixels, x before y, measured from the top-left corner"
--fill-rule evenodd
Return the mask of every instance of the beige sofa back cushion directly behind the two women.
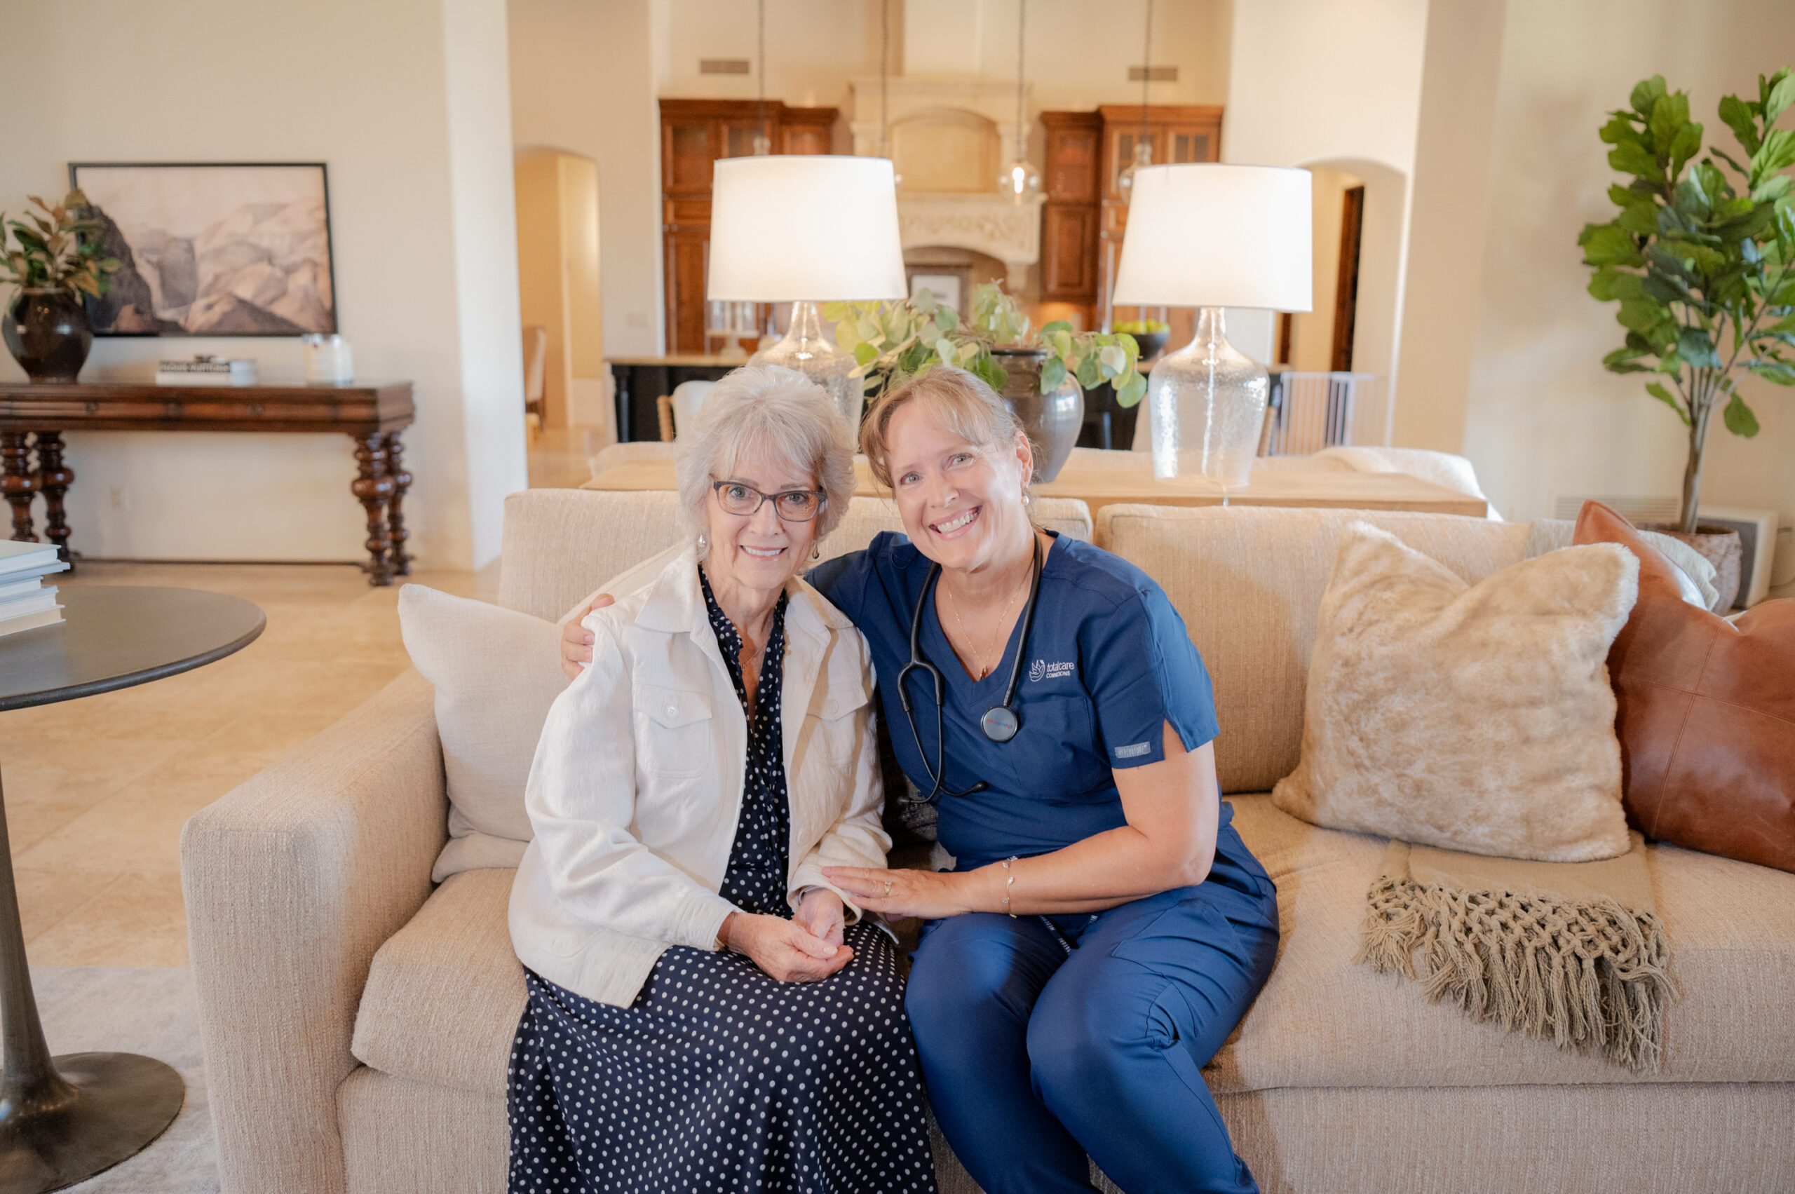
M 1091 512 L 1073 497 L 1043 497 L 1036 522 L 1091 539 Z M 827 539 L 822 558 L 860 551 L 880 531 L 901 531 L 898 506 L 854 497 Z M 504 499 L 504 567 L 499 605 L 558 619 L 601 584 L 635 567 L 686 535 L 679 496 L 668 490 L 612 492 L 531 488 Z

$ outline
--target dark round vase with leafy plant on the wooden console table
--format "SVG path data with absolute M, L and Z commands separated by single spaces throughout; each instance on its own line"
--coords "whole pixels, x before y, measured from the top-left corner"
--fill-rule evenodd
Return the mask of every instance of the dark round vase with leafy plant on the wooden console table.
M 99 230 L 99 221 L 86 217 L 84 194 L 70 190 L 54 206 L 38 196 L 31 201 L 41 215 L 9 221 L 0 214 L 0 282 L 20 287 L 0 332 L 32 381 L 74 382 L 93 347 L 81 296 L 104 294 L 118 262 L 101 257 L 99 241 L 84 235 Z

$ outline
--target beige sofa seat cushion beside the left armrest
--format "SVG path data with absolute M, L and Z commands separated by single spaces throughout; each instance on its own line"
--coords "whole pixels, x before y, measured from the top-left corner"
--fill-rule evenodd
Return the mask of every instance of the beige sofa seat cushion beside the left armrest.
M 530 998 L 504 923 L 515 874 L 463 871 L 388 937 L 355 1013 L 350 1052 L 363 1065 L 433 1086 L 504 1093 Z

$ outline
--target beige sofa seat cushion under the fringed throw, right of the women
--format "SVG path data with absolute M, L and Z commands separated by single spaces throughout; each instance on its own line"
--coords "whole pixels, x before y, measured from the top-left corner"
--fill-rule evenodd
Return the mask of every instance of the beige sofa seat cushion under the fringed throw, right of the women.
M 1217 1093 L 1276 1086 L 1501 1086 L 1795 1081 L 1795 874 L 1646 847 L 1678 998 L 1664 1072 L 1635 1075 L 1551 1041 L 1429 1004 L 1405 979 L 1353 964 L 1364 896 L 1388 838 L 1321 830 L 1230 797 L 1233 824 L 1278 883 L 1278 966 L 1210 1063 Z

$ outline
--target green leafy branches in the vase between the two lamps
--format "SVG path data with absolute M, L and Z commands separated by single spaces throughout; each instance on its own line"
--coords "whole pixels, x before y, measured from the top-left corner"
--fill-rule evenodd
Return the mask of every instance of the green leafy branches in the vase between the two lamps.
M 872 397 L 937 364 L 955 364 L 1002 390 L 1009 370 L 991 356 L 993 348 L 1046 348 L 1041 393 L 1059 390 L 1068 375 L 1086 390 L 1111 382 L 1122 406 L 1147 393 L 1133 336 L 1073 332 L 1064 320 L 1036 332 L 1021 303 L 994 282 L 973 287 L 969 321 L 930 291 L 899 303 L 826 303 L 822 318 L 835 323 L 835 343 L 854 354 L 854 377 Z

